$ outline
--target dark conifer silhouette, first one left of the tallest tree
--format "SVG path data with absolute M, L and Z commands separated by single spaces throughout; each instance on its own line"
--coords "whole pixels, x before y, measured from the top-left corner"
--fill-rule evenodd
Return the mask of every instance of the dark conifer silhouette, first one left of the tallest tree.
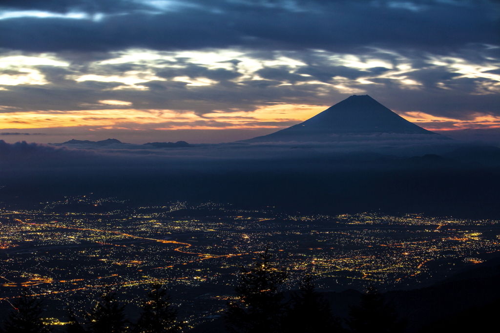
M 140 314 L 134 333 L 175 333 L 181 325 L 177 321 L 177 310 L 170 303 L 170 296 L 161 284 L 153 284 L 147 293 L 148 300 L 142 299 Z

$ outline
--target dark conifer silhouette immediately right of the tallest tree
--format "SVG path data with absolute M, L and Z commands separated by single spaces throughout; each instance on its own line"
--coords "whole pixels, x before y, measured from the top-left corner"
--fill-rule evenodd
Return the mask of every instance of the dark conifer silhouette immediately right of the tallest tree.
M 330 304 L 315 290 L 312 276 L 307 274 L 291 295 L 291 306 L 285 320 L 286 331 L 342 332 L 338 319 L 331 314 Z

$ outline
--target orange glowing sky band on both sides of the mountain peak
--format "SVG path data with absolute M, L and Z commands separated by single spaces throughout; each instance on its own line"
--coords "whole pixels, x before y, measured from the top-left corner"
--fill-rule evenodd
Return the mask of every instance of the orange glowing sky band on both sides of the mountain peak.
M 118 105 L 118 100 L 103 100 L 107 105 Z M 57 127 L 92 127 L 128 130 L 211 130 L 283 128 L 292 122 L 306 120 L 323 111 L 326 105 L 273 104 L 253 111 L 212 111 L 196 114 L 193 111 L 144 110 L 110 108 L 74 111 L 26 111 L 0 113 L 0 129 L 35 129 Z M 465 128 L 498 128 L 500 117 L 475 114 L 468 120 L 433 116 L 420 111 L 398 112 L 403 118 L 429 130 L 456 130 Z

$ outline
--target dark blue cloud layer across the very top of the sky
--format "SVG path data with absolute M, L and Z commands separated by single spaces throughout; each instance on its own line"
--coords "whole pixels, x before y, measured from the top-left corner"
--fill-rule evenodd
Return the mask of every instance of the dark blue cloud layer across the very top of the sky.
M 156 1 L 156 3 L 162 1 Z M 432 50 L 498 44 L 496 1 L 10 1 L 4 9 L 104 15 L 0 20 L 0 45 L 26 51 L 322 48 Z M 92 16 L 93 17 L 93 16 Z

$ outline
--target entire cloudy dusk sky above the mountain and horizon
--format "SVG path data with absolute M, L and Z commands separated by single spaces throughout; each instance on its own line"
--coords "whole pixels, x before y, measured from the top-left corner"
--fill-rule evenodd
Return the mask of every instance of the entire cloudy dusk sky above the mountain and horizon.
M 497 0 L 2 0 L 0 31 L 6 142 L 230 142 L 352 94 L 500 138 Z

